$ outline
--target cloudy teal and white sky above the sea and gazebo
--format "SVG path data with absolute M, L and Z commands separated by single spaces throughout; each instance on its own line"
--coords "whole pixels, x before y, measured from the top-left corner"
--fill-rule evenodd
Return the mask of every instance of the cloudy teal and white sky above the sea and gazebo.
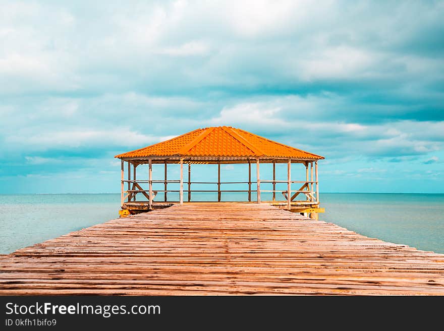
M 215 125 L 321 191 L 444 192 L 444 2 L 0 5 L 0 193 L 118 192 L 114 155 Z

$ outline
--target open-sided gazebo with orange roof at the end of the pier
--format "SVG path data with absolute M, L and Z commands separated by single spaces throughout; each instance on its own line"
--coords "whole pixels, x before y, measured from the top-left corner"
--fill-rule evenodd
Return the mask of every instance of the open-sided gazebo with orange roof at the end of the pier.
M 217 192 L 217 202 L 221 201 L 222 192 L 248 192 L 248 201 L 246 202 L 258 204 L 262 201 L 261 192 L 271 192 L 272 200 L 267 202 L 280 208 L 306 213 L 306 215 L 311 214 L 313 218 L 317 218 L 317 213 L 323 212 L 323 209 L 319 208 L 317 164 L 317 161 L 323 157 L 273 142 L 239 128 L 231 126 L 199 128 L 179 137 L 115 157 L 121 159 L 121 216 L 165 208 L 177 203 L 182 205 L 184 204 L 184 191 L 187 192 L 188 203 L 192 202 L 192 192 Z M 248 164 L 248 181 L 221 182 L 221 164 L 242 163 Z M 256 165 L 257 179 L 255 182 L 251 180 L 252 163 Z M 272 178 L 260 178 L 259 165 L 261 163 L 272 164 Z M 287 180 L 276 180 L 276 163 L 287 164 Z M 292 163 L 305 167 L 305 180 L 292 180 Z M 141 164 L 149 165 L 146 180 L 136 180 L 136 169 Z M 163 164 L 164 177 L 162 179 L 154 180 L 152 178 L 153 164 Z M 167 178 L 168 164 L 180 164 L 180 178 L 174 180 Z M 188 178 L 185 181 L 184 164 L 188 165 Z M 217 182 L 192 182 L 191 164 L 217 164 Z M 126 175 L 125 169 L 127 169 Z M 153 190 L 153 183 L 163 183 L 163 189 Z M 179 184 L 179 189 L 168 189 L 169 183 Z M 261 183 L 271 183 L 272 190 L 261 189 Z M 279 183 L 286 183 L 287 189 L 276 190 L 276 184 Z M 217 184 L 217 190 L 192 190 L 192 184 Z M 221 184 L 247 184 L 248 189 L 223 190 Z M 252 184 L 256 184 L 256 189 L 252 187 Z M 298 184 L 296 190 L 292 189 L 292 184 Z M 158 194 L 160 192 L 163 194 Z M 168 201 L 168 192 L 179 193 L 179 201 Z M 252 196 L 253 194 L 255 196 Z M 136 200 L 137 196 L 143 196 L 146 200 Z M 303 196 L 304 200 L 297 200 L 299 196 Z

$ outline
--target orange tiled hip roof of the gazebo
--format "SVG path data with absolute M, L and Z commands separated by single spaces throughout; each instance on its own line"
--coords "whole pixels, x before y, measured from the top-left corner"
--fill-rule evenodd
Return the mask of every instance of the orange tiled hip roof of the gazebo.
M 323 159 L 322 156 L 273 142 L 231 126 L 205 127 L 182 136 L 116 158 L 148 156 L 202 157 L 283 157 L 294 159 Z

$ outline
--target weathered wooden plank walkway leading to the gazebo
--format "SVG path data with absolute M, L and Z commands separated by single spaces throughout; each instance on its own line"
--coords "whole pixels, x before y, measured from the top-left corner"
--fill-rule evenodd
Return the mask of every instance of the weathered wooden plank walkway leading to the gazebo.
M 444 254 L 268 204 L 191 203 L 3 255 L 0 294 L 444 295 Z

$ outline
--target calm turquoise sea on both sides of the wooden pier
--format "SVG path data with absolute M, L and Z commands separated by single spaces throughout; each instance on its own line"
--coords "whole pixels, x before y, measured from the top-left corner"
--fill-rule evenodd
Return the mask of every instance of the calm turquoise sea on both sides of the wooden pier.
M 213 198 L 194 194 L 196 201 Z M 320 201 L 326 210 L 320 220 L 444 253 L 444 194 L 321 193 Z M 0 194 L 0 253 L 117 218 L 119 205 L 120 194 Z

